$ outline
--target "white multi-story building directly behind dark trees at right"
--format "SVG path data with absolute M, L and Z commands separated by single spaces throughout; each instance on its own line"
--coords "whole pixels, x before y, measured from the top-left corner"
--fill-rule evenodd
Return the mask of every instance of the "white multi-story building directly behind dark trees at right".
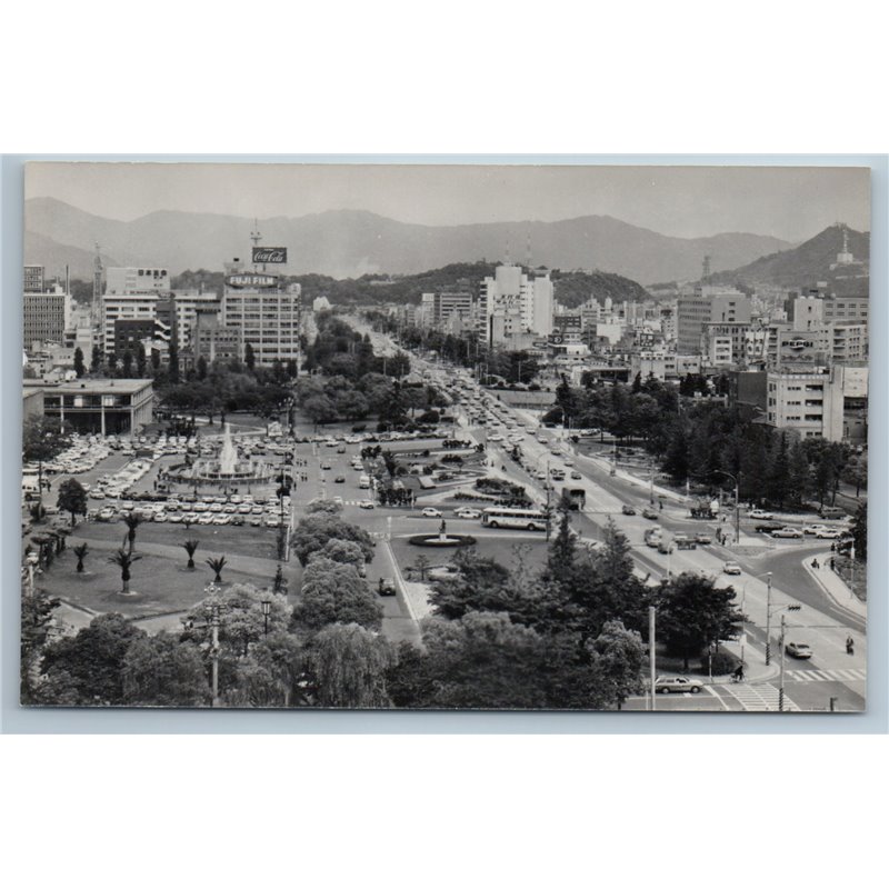
M 843 436 L 842 374 L 769 370 L 766 376 L 766 421 L 792 429 L 801 438 L 841 441 Z

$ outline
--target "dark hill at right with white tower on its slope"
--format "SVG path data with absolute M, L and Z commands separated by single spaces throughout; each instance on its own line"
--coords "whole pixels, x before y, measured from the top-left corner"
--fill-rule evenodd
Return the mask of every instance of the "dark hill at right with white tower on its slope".
M 732 271 L 711 276 L 713 283 L 758 284 L 806 288 L 816 281 L 836 283 L 838 292 L 867 292 L 868 284 L 861 276 L 868 272 L 870 262 L 870 234 L 848 229 L 849 251 L 861 266 L 830 267 L 837 262 L 842 250 L 842 226 L 830 226 L 815 238 L 777 253 L 761 257 Z

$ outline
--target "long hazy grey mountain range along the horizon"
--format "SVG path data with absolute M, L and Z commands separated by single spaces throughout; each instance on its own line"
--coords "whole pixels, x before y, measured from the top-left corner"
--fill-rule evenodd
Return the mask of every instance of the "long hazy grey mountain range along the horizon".
M 26 202 L 24 259 L 48 274 L 92 276 L 94 244 L 106 266 L 159 266 L 172 273 L 221 269 L 249 258 L 253 220 L 212 213 L 160 211 L 130 222 L 104 219 L 52 198 Z M 418 226 L 361 210 L 259 220 L 262 243 L 287 247 L 289 274 L 356 278 L 369 272 L 410 274 L 453 262 L 531 260 L 560 269 L 600 269 L 641 283 L 696 280 L 705 256 L 713 272 L 746 266 L 792 244 L 778 238 L 722 233 L 672 238 L 603 216 L 558 222 Z

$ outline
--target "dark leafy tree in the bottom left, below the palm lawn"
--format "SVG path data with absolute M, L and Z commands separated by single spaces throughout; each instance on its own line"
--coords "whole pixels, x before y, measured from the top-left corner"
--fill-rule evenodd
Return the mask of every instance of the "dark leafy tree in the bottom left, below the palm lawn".
M 42 668 L 50 679 L 67 677 L 81 703 L 126 703 L 123 661 L 130 646 L 144 637 L 122 615 L 101 615 L 76 636 L 47 647 Z

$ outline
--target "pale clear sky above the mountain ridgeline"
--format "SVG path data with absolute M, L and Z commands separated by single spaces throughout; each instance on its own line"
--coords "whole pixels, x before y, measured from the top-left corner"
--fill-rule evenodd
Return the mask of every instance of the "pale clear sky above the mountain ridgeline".
M 428 226 L 612 216 L 662 234 L 803 241 L 870 230 L 869 170 L 853 167 L 31 162 L 26 198 L 132 220 L 156 210 L 299 217 L 369 210 Z

